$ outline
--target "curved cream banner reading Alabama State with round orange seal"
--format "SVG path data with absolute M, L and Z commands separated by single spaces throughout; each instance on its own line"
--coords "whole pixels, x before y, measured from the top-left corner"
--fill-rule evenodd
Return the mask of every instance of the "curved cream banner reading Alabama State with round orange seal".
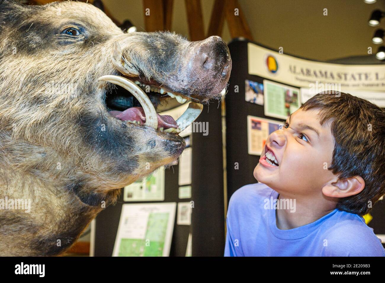
M 251 75 L 297 87 L 337 84 L 342 92 L 345 89 L 385 91 L 384 65 L 315 62 L 248 43 L 248 67 Z

